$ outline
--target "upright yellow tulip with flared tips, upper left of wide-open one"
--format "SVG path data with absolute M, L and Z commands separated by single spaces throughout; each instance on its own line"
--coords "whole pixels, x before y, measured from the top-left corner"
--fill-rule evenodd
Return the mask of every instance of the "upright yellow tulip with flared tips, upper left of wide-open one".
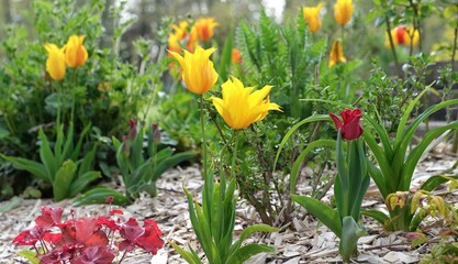
M 213 67 L 212 61 L 210 61 L 210 55 L 212 55 L 214 51 L 216 51 L 214 47 L 203 50 L 198 46 L 194 53 L 183 51 L 185 56 L 169 51 L 169 53 L 180 63 L 182 79 L 190 91 L 203 95 L 216 82 L 217 74 Z

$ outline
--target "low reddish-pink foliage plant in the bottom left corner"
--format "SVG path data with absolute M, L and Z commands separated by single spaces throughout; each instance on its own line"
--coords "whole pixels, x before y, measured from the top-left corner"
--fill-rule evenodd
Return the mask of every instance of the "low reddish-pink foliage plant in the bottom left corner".
M 14 238 L 15 245 L 32 245 L 36 257 L 43 264 L 108 264 L 119 253 L 125 254 L 136 246 L 153 255 L 163 248 L 161 232 L 149 219 L 143 227 L 134 218 L 123 221 L 113 219 L 123 215 L 120 209 L 98 218 L 72 218 L 63 222 L 62 208 L 42 207 L 42 215 L 35 219 L 35 227 Z

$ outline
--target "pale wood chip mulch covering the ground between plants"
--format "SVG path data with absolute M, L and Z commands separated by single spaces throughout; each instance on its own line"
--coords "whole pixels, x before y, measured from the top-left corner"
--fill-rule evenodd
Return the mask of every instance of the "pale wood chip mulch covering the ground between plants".
M 413 188 L 420 186 L 431 175 L 439 174 L 455 164 L 457 156 L 449 154 L 446 148 L 447 146 L 439 144 L 418 164 L 413 178 Z M 453 174 L 457 174 L 457 170 L 454 170 Z M 155 220 L 164 233 L 164 240 L 174 241 L 185 248 L 192 245 L 193 249 L 199 250 L 189 220 L 188 205 L 182 190 L 183 185 L 200 200 L 203 182 L 198 167 L 178 167 L 167 172 L 157 182 L 157 197 L 142 196 L 134 205 L 123 210 L 125 217 L 132 216 L 139 221 Z M 298 191 L 305 188 L 306 182 L 301 185 L 298 187 Z M 458 191 L 448 191 L 446 188 L 438 191 L 447 197 L 447 201 L 455 204 L 458 201 Z M 331 195 L 332 190 L 328 191 L 325 199 Z M 15 253 L 24 248 L 15 249 L 11 241 L 21 231 L 33 227 L 34 219 L 40 215 L 41 207 L 44 205 L 65 208 L 64 217 L 68 216 L 70 208 L 74 208 L 71 200 L 53 202 L 51 199 L 13 198 L 0 202 L 0 209 L 9 207 L 9 210 L 0 212 L 0 263 L 27 263 L 25 258 Z M 366 208 L 384 207 L 373 184 L 371 184 L 362 206 Z M 74 209 L 77 217 L 98 216 L 100 212 L 107 212 L 108 206 L 92 205 Z M 246 226 L 260 222 L 256 211 L 243 200 L 237 205 L 237 216 L 236 233 L 239 233 Z M 359 254 L 353 260 L 354 263 L 417 263 L 431 248 L 431 244 L 425 244 L 412 249 L 404 238 L 405 233 L 386 232 L 380 224 L 367 218 L 364 219 L 364 223 L 368 234 L 359 239 Z M 300 207 L 297 207 L 297 213 L 291 224 L 280 227 L 280 231 L 276 233 L 255 234 L 247 242 L 266 243 L 277 249 L 277 253 L 273 255 L 259 254 L 252 257 L 248 261 L 252 264 L 339 263 L 342 261 L 338 255 L 336 237 Z M 155 256 L 138 250 L 129 254 L 123 263 L 175 264 L 186 262 L 166 243 Z

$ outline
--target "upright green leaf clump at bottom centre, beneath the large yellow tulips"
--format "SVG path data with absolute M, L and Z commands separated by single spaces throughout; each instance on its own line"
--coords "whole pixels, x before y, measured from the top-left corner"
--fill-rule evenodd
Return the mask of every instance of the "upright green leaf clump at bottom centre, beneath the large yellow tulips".
M 242 264 L 258 253 L 275 252 L 273 248 L 264 244 L 242 245 L 245 239 L 254 232 L 277 231 L 267 224 L 250 226 L 236 241 L 233 241 L 237 204 L 237 196 L 234 195 L 235 186 L 234 178 L 227 184 L 225 176 L 216 180 L 213 179 L 213 175 L 210 175 L 204 183 L 202 206 L 185 189 L 192 227 L 210 264 Z M 188 263 L 203 263 L 192 248 L 186 251 L 175 243 L 171 245 Z

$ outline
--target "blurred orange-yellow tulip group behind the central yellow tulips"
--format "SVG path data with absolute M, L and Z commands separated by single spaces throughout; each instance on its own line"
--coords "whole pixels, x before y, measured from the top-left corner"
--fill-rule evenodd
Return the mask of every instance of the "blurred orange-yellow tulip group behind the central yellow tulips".
M 168 37 L 168 50 L 180 53 L 181 48 L 186 47 L 189 52 L 193 52 L 198 41 L 210 41 L 214 35 L 214 28 L 219 25 L 214 18 L 200 18 L 193 24 L 188 21 L 174 24 L 171 25 L 174 33 Z

